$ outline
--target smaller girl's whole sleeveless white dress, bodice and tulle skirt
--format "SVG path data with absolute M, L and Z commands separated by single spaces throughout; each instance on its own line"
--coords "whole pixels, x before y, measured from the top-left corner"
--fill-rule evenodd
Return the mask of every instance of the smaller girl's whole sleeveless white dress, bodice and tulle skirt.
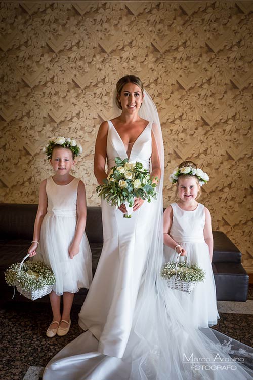
M 219 314 L 209 248 L 204 241 L 204 205 L 198 203 L 193 211 L 183 210 L 177 203 L 172 203 L 171 207 L 173 210 L 171 237 L 186 250 L 187 261 L 197 264 L 205 272 L 204 282 L 198 283 L 190 294 L 175 290 L 175 295 L 183 309 L 189 313 L 196 328 L 213 326 L 217 324 Z M 167 261 L 176 261 L 178 254 L 174 249 L 164 245 L 164 251 Z M 180 260 L 185 259 L 181 257 Z

